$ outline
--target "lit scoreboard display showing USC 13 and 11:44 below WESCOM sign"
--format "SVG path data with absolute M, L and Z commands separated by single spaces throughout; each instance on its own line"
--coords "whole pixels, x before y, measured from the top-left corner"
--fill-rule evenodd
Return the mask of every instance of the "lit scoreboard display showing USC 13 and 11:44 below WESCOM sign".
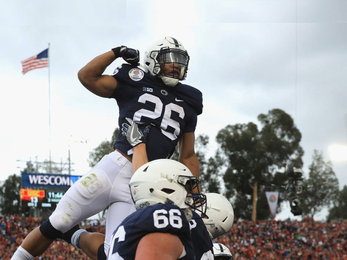
M 29 207 L 56 208 L 66 191 L 20 189 L 20 200 Z

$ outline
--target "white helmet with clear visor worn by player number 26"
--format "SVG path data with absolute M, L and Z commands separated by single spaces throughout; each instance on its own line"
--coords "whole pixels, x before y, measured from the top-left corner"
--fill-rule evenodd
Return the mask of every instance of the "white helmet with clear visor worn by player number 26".
M 187 76 L 189 55 L 179 41 L 167 36 L 152 43 L 147 48 L 143 62 L 153 76 L 158 75 L 165 85 L 174 87 L 179 80 L 184 80 Z M 164 75 L 161 70 L 166 63 L 172 64 L 170 75 Z M 174 69 L 174 66 L 177 67 L 179 73 Z

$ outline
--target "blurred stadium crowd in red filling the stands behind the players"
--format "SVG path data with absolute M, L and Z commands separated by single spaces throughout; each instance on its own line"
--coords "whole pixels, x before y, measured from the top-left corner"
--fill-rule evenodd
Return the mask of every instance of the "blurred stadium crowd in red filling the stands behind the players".
M 44 219 L 0 215 L 0 259 L 10 260 L 24 237 Z M 104 220 L 81 223 L 90 232 L 105 232 Z M 237 221 L 227 235 L 213 240 L 229 247 L 235 260 L 329 259 L 347 260 L 347 221 Z M 65 241 L 54 241 L 40 260 L 89 259 L 81 250 Z

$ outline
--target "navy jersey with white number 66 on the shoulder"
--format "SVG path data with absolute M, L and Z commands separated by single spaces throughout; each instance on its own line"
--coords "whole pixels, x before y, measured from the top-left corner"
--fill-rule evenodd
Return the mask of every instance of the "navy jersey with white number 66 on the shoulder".
M 195 259 L 189 223 L 184 212 L 176 205 L 169 204 L 147 206 L 124 219 L 112 235 L 107 259 L 135 259 L 137 245 L 142 237 L 157 232 L 179 237 L 186 252 L 180 260 Z

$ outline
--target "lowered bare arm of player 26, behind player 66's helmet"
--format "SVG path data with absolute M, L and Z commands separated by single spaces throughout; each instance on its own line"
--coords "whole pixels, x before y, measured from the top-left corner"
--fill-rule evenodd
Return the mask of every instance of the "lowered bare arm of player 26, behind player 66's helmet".
M 194 132 L 183 133 L 178 141 L 179 156 L 178 161 L 183 163 L 192 174 L 199 179 L 200 165 L 194 150 L 195 135 Z

